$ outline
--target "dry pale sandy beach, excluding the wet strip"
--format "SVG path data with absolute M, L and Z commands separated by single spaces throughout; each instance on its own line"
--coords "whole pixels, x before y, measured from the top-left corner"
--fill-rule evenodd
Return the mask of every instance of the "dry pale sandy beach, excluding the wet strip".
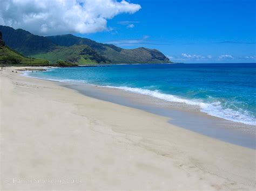
M 255 150 L 16 69 L 0 72 L 1 190 L 255 189 Z

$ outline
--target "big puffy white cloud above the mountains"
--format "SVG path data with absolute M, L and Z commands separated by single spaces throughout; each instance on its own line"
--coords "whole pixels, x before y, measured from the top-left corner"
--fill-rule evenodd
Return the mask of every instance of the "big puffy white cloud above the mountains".
M 93 33 L 107 30 L 107 19 L 139 9 L 125 0 L 4 0 L 0 24 L 42 35 Z

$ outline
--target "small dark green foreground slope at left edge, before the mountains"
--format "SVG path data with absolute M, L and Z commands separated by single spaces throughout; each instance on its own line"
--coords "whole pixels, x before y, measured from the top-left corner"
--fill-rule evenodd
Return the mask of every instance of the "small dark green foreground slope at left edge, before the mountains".
M 27 58 L 22 54 L 10 49 L 8 46 L 5 46 L 5 43 L 2 40 L 2 33 L 0 31 L 0 64 L 5 66 L 43 66 L 48 65 L 49 62 L 42 59 Z

